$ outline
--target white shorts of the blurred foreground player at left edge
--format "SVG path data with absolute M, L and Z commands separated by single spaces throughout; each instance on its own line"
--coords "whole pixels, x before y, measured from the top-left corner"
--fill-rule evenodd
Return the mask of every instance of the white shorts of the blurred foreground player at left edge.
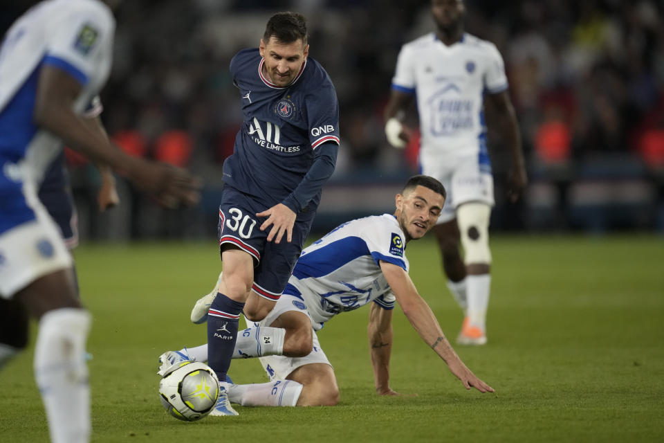
M 0 234 L 0 297 L 11 298 L 35 280 L 73 266 L 55 221 L 36 195 L 26 198 L 37 217 Z

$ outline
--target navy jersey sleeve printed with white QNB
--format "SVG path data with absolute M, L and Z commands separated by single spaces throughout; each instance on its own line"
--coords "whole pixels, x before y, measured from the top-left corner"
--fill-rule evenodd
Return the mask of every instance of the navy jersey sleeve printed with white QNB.
M 309 126 L 309 143 L 316 149 L 325 142 L 340 144 L 339 100 L 329 78 L 326 84 L 308 96 L 306 116 Z

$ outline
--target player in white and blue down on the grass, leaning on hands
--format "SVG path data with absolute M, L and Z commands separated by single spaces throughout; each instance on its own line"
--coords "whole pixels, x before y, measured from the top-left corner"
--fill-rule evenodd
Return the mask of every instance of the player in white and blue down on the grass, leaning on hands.
M 370 302 L 368 333 L 376 392 L 398 395 L 389 386 L 395 301 L 466 389 L 472 386 L 480 392 L 493 392 L 459 359 L 408 275 L 406 244 L 423 237 L 436 224 L 444 203 L 445 188 L 439 181 L 414 176 L 396 195 L 394 215 L 349 221 L 305 248 L 275 308 L 259 323 L 248 320 L 250 327 L 236 343 L 234 358 L 260 357 L 271 381 L 227 386 L 230 401 L 243 406 L 337 404 L 334 370 L 316 331 L 333 316 Z M 209 302 L 209 294 L 196 302 L 194 323 L 205 321 Z M 160 356 L 159 374 L 181 361 L 205 361 L 205 348 L 165 352 Z

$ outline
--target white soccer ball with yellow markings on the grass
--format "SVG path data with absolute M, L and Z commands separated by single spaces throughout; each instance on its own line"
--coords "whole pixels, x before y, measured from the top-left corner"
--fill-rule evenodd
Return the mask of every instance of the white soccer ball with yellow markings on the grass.
M 183 361 L 159 382 L 161 404 L 170 415 L 195 422 L 208 415 L 219 397 L 219 379 L 208 365 Z

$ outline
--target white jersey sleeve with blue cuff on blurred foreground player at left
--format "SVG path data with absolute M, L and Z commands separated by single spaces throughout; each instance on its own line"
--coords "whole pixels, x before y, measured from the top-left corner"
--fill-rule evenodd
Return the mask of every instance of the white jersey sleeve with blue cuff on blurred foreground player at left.
M 81 84 L 89 82 L 100 63 L 100 57 L 111 57 L 115 20 L 102 5 L 91 3 L 86 8 L 53 23 L 53 36 L 46 48 L 44 64 L 57 66 Z

